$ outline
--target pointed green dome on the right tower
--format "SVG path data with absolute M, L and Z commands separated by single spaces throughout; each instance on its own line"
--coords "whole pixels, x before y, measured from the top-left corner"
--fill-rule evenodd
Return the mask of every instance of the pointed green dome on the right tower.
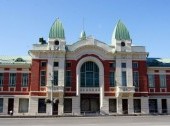
M 113 39 L 116 40 L 131 40 L 130 35 L 129 35 L 129 31 L 127 30 L 126 26 L 119 20 L 113 35 L 112 35 L 112 41 Z

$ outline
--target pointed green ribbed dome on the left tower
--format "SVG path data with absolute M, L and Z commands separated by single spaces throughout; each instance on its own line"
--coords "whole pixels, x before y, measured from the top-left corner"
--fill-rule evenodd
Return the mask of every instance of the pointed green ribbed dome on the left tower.
M 49 38 L 65 39 L 64 28 L 61 21 L 58 18 L 51 26 Z

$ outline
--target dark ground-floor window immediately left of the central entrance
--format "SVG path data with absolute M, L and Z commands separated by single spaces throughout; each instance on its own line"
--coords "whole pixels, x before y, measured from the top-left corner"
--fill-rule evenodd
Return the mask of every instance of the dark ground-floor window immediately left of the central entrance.
M 72 99 L 71 98 L 64 99 L 64 113 L 72 113 Z

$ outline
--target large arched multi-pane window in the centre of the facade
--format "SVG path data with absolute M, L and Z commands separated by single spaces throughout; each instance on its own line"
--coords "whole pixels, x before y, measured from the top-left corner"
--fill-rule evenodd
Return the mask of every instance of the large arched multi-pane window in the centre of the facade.
M 94 62 L 85 62 L 80 73 L 81 87 L 99 87 L 99 67 Z

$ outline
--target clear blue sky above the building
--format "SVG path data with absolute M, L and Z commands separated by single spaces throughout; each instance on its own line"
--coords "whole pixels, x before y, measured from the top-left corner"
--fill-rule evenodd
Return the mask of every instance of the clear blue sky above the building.
M 87 36 L 111 44 L 119 19 L 149 57 L 170 58 L 170 0 L 0 0 L 0 55 L 27 55 L 59 17 L 67 44 Z

